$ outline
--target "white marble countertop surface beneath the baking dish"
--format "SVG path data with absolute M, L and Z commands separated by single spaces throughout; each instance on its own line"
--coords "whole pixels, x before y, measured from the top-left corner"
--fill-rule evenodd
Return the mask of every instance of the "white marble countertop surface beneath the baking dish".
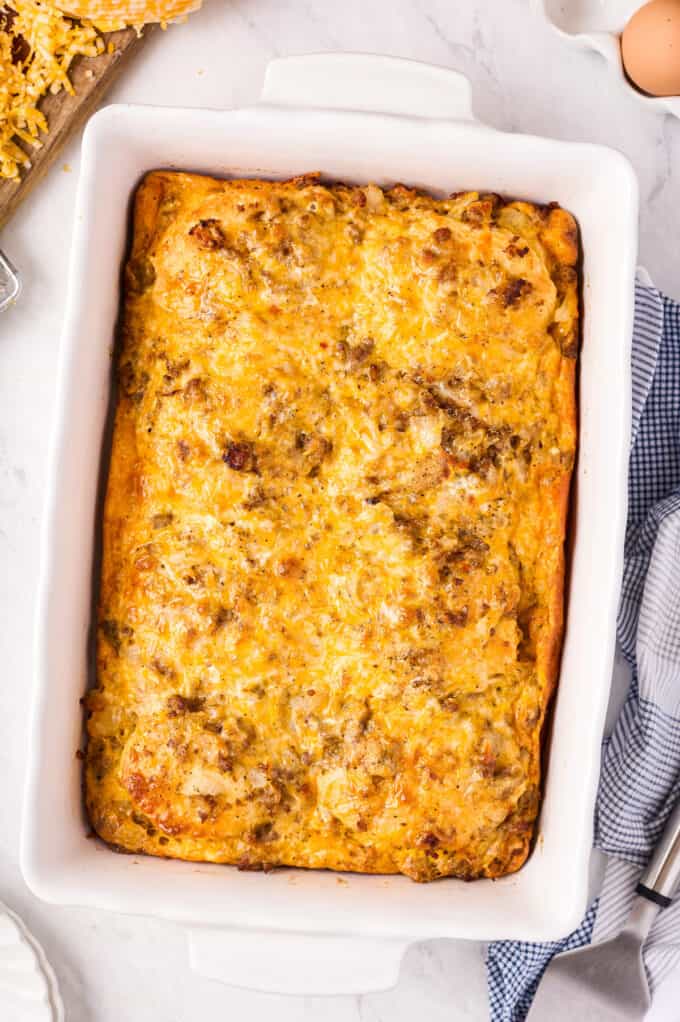
M 206 0 L 188 25 L 149 40 L 110 98 L 247 104 L 257 99 L 272 56 L 318 50 L 394 53 L 453 66 L 472 81 L 477 114 L 498 128 L 624 151 L 641 186 L 641 262 L 680 297 L 680 121 L 642 110 L 601 59 L 565 46 L 540 24 L 528 0 L 343 0 L 336 6 Z M 272 997 L 194 977 L 184 935 L 172 925 L 55 910 L 22 883 L 18 831 L 38 532 L 78 164 L 75 141 L 0 237 L 25 278 L 19 303 L 0 317 L 0 899 L 44 942 L 69 1022 L 194 1022 L 217 1013 L 257 1022 L 272 1012 L 281 1022 L 484 1020 L 484 967 L 474 944 L 413 948 L 399 986 L 388 993 L 324 1002 Z M 665 1000 L 668 1013 L 654 1012 L 659 1018 L 671 1017 L 672 997 Z

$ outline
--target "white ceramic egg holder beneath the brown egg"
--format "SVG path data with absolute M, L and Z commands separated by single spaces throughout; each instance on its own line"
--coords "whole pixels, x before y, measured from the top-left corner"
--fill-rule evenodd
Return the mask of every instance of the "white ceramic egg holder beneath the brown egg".
M 680 96 L 647 96 L 631 85 L 624 71 L 620 36 L 644 6 L 642 0 L 532 0 L 532 5 L 568 42 L 600 53 L 643 106 L 680 118 Z

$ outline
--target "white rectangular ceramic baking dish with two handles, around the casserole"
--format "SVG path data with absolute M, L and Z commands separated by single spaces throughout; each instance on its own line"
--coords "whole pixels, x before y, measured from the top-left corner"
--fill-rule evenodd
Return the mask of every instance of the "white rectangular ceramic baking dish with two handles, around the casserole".
M 540 836 L 526 867 L 491 882 L 277 871 L 118 855 L 87 839 L 79 698 L 88 633 L 102 437 L 119 273 L 132 191 L 147 170 L 403 181 L 558 200 L 585 252 L 581 448 L 561 681 Z M 109 106 L 83 142 L 58 421 L 37 625 L 36 698 L 21 864 L 40 897 L 162 916 L 191 928 L 192 961 L 263 989 L 349 992 L 396 982 L 429 937 L 558 937 L 584 910 L 599 746 L 622 563 L 637 187 L 619 153 L 480 125 L 455 72 L 390 57 L 270 64 L 260 105 L 211 111 Z M 285 936 L 285 939 L 282 939 Z

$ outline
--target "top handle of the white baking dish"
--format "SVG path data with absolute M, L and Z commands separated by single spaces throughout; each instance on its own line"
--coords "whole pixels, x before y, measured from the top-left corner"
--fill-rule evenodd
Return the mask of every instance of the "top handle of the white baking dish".
M 270 61 L 262 102 L 473 122 L 460 72 L 372 53 L 309 53 Z

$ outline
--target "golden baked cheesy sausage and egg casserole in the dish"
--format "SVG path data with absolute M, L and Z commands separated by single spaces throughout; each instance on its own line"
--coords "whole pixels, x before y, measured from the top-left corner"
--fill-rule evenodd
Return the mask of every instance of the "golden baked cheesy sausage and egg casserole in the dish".
M 556 204 L 146 176 L 86 697 L 104 841 L 419 881 L 522 866 L 578 253 Z

